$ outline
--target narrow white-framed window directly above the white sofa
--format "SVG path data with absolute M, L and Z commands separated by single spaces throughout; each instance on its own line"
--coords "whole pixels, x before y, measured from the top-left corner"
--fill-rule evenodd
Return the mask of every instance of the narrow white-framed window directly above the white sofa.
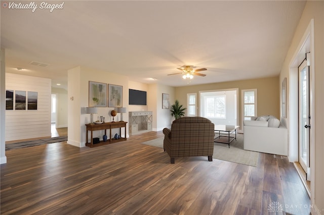
M 257 116 L 257 89 L 242 90 L 242 120 Z

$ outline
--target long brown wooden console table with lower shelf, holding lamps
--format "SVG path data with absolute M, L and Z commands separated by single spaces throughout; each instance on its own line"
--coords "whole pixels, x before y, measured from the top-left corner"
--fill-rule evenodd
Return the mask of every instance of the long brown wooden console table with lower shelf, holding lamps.
M 86 124 L 87 135 L 86 135 L 86 146 L 95 147 L 100 145 L 106 145 L 110 143 L 120 142 L 127 140 L 126 138 L 126 124 L 127 122 L 111 122 L 111 123 L 102 123 L 102 124 Z M 114 139 L 111 137 L 111 129 L 119 128 L 119 135 L 121 135 L 121 128 L 125 128 L 125 137 L 120 137 L 120 139 Z M 100 141 L 99 143 L 93 143 L 93 131 L 105 130 L 105 135 L 107 135 L 107 129 L 109 129 L 109 139 L 106 142 Z M 91 132 L 91 141 L 88 142 L 88 132 Z

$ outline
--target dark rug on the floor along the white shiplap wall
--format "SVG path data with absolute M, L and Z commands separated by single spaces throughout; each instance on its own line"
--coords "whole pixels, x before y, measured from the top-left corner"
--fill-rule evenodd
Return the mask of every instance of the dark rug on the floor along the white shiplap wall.
M 36 146 L 36 145 L 58 143 L 58 142 L 64 142 L 64 141 L 67 141 L 67 136 L 49 137 L 49 138 L 43 138 L 43 139 L 37 139 L 37 140 L 28 140 L 28 141 L 23 141 L 23 142 L 18 142 L 18 143 L 6 144 L 6 150 L 17 149 L 17 148 L 27 148 L 27 147 Z

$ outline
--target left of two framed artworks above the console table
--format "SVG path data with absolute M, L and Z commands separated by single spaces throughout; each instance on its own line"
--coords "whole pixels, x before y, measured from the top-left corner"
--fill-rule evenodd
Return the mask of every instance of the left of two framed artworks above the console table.
M 107 106 L 107 84 L 89 81 L 89 106 Z

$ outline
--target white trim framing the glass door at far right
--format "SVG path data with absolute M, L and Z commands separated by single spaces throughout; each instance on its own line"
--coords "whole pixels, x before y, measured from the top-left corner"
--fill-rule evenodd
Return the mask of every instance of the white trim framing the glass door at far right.
M 315 125 L 315 117 L 314 117 L 314 20 L 311 19 L 310 23 L 308 24 L 305 33 L 297 46 L 297 49 L 295 51 L 295 54 L 291 60 L 291 63 L 289 64 L 289 75 L 290 75 L 290 81 L 289 81 L 289 91 L 290 91 L 290 97 L 289 97 L 289 103 L 290 103 L 290 112 L 289 112 L 289 160 L 290 162 L 298 162 L 298 66 L 302 62 L 302 59 L 305 58 L 306 53 L 309 53 L 307 55 L 307 58 L 309 56 L 309 59 L 307 61 L 310 61 L 310 67 L 309 67 L 309 103 L 310 103 L 310 109 L 309 114 L 311 115 L 311 125 Z M 314 140 L 315 140 L 315 127 L 312 127 L 310 129 L 310 200 L 311 202 L 314 202 L 314 197 L 312 196 L 312 193 L 315 193 L 314 190 L 314 164 L 315 164 L 315 158 L 314 158 Z

